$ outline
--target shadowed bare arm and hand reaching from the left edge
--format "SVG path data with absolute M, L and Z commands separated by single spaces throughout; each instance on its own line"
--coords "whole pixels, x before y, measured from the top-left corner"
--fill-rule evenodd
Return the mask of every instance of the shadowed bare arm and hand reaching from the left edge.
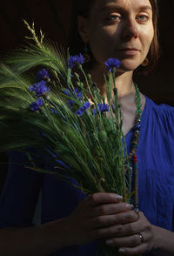
M 1 256 L 47 256 L 66 246 L 114 236 L 116 230 L 110 231 L 110 225 L 115 223 L 115 212 L 131 212 L 126 222 L 137 220 L 131 205 L 122 202 L 116 194 L 96 193 L 90 196 L 90 202 L 81 201 L 67 218 L 41 226 L 3 228 L 0 230 Z

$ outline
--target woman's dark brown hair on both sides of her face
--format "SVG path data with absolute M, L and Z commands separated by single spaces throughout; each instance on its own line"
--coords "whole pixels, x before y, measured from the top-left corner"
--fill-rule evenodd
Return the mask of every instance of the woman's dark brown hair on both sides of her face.
M 82 15 L 83 17 L 88 17 L 92 5 L 95 3 L 95 0 L 76 0 L 75 6 L 75 17 L 74 17 L 74 30 L 70 37 L 70 54 L 78 54 L 84 51 L 84 42 L 77 31 L 77 16 Z M 157 30 L 157 17 L 158 17 L 158 7 L 157 0 L 150 0 L 152 7 L 152 21 L 154 27 L 154 37 L 151 42 L 150 51 L 148 52 L 147 58 L 149 64 L 145 67 L 140 66 L 137 68 L 137 71 L 143 71 L 145 74 L 154 70 L 157 65 L 157 60 L 159 58 L 159 44 L 158 44 L 158 30 Z M 92 53 L 90 52 L 92 56 Z

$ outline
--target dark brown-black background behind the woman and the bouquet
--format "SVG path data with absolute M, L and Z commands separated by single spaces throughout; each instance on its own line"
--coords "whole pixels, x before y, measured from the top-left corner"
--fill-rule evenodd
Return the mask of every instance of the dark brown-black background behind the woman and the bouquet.
M 156 71 L 148 77 L 138 77 L 137 84 L 145 95 L 155 102 L 174 105 L 174 1 L 159 2 L 159 42 L 161 57 Z M 75 0 L 5 0 L 0 3 L 0 51 L 8 52 L 24 43 L 29 31 L 23 24 L 26 19 L 30 24 L 35 22 L 46 37 L 58 44 L 67 46 L 73 33 Z M 1 143 L 1 142 L 0 142 Z M 6 153 L 0 154 L 0 162 L 7 162 Z M 6 164 L 0 165 L 0 192 L 6 175 Z

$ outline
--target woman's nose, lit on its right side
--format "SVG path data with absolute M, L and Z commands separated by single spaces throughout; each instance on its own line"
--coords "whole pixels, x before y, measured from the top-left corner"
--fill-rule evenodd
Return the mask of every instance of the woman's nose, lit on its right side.
M 138 37 L 137 24 L 132 21 L 126 22 L 124 25 L 122 37 L 123 37 L 124 41 L 129 41 L 132 38 L 137 39 L 137 37 Z

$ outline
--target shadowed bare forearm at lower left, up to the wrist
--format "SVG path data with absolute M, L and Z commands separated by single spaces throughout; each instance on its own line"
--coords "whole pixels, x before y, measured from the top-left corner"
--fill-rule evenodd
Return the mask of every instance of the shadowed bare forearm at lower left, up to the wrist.
M 46 256 L 70 245 L 70 224 L 60 219 L 41 226 L 0 230 L 2 256 Z

